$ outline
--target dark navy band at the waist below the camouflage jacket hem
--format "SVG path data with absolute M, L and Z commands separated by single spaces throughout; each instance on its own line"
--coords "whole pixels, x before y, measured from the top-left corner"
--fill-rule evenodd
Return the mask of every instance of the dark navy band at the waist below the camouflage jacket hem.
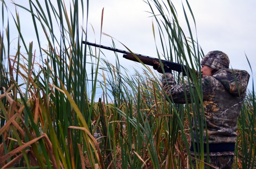
M 209 144 L 209 152 L 234 152 L 236 143 L 215 143 Z M 191 143 L 190 151 L 198 152 L 198 143 L 195 143 L 195 148 Z M 204 152 L 207 152 L 207 144 L 204 144 Z

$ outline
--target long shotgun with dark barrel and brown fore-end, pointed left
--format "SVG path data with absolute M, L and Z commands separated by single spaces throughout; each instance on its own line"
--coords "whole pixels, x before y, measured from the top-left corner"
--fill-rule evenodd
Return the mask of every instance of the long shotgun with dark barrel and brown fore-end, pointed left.
M 85 42 L 83 41 L 84 44 L 87 44 L 87 45 L 90 45 L 90 46 L 95 46 L 95 47 L 98 47 L 98 48 L 102 48 L 102 49 L 107 49 L 107 50 L 110 50 L 110 51 L 114 51 L 114 52 L 119 52 L 119 53 L 122 53 L 124 54 L 123 57 L 125 59 L 128 59 L 128 60 L 132 60 L 134 62 L 139 62 L 137 60 L 136 57 L 134 57 L 133 54 L 131 54 L 130 52 L 127 52 L 127 51 L 124 51 L 124 50 L 120 50 L 120 49 L 114 49 L 114 48 L 111 48 L 111 47 L 108 47 L 108 46 L 102 46 L 102 45 L 98 45 L 98 44 L 95 44 L 95 43 L 90 43 L 90 42 Z M 159 59 L 158 58 L 154 58 L 154 57 L 149 57 L 149 56 L 145 56 L 145 55 L 142 55 L 142 54 L 136 54 L 134 53 L 145 65 L 149 65 L 149 66 L 154 66 L 154 63 L 153 63 L 153 60 L 156 60 L 159 62 Z M 179 63 L 175 63 L 175 62 L 170 62 L 170 61 L 167 61 L 167 60 L 161 60 L 163 64 L 165 64 L 166 66 L 169 67 L 170 70 L 175 70 L 179 73 L 182 73 L 184 76 L 186 76 L 186 73 L 185 73 L 185 69 L 190 69 L 189 67 L 187 67 L 186 65 L 184 65 L 184 67 L 182 66 L 182 64 L 179 64 Z M 185 68 L 185 69 L 184 69 Z

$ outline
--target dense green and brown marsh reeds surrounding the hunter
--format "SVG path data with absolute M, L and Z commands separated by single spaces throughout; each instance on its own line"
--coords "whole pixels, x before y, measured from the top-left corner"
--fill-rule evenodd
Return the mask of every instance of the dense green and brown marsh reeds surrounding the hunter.
M 11 14 L 2 0 L 1 13 L 8 20 L 0 28 L 0 167 L 188 169 L 192 119 L 198 117 L 200 133 L 205 123 L 204 114 L 195 113 L 204 109 L 201 78 L 195 75 L 204 53 L 192 36 L 190 25 L 195 19 L 189 3 L 184 1 L 190 32 L 185 35 L 171 1 L 145 1 L 157 23 L 154 37 L 161 39 L 158 57 L 190 64 L 192 70 L 187 71 L 194 73 L 195 88 L 190 91 L 194 103 L 182 105 L 164 99 L 160 76 L 152 68 L 142 65 L 142 70 L 130 74 L 116 53 L 116 63 L 109 63 L 102 57 L 104 51 L 82 44 L 87 40 L 88 0 L 66 4 L 56 0 L 56 6 L 50 0 L 44 5 L 28 1 L 29 8 L 15 5 L 33 20 L 37 34 L 33 42 L 24 41 L 18 10 Z M 84 17 L 79 18 L 79 13 Z M 187 14 L 193 18 L 190 22 Z M 102 20 L 103 16 L 102 10 Z M 86 27 L 81 28 L 80 19 Z M 19 32 L 16 49 L 10 49 L 9 20 L 15 20 Z M 47 49 L 41 48 L 42 36 L 47 38 Z M 11 50 L 16 54 L 11 55 Z M 42 60 L 42 55 L 47 58 Z M 174 75 L 178 83 L 191 85 L 187 77 Z M 97 88 L 103 91 L 99 100 Z M 234 169 L 256 168 L 255 103 L 253 89 L 238 120 Z M 204 158 L 202 148 L 199 160 Z M 204 165 L 199 163 L 198 168 Z

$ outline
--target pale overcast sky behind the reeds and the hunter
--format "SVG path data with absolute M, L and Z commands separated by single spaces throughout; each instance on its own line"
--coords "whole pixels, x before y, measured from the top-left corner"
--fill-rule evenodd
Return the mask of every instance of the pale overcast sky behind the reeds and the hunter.
M 142 0 L 89 0 L 88 23 L 91 23 L 96 34 L 96 43 L 100 40 L 100 24 L 102 8 L 104 8 L 104 20 L 102 32 L 111 35 L 120 42 L 124 43 L 135 53 L 157 57 L 154 37 L 152 33 L 152 17 L 145 11 L 150 11 L 149 6 Z M 21 1 L 16 1 L 20 3 Z M 26 1 L 23 1 L 24 4 Z M 54 1 L 51 1 L 54 2 Z M 67 1 L 66 5 L 69 4 Z M 14 12 L 13 6 L 7 2 L 9 8 Z M 186 36 L 186 21 L 183 15 L 182 1 L 173 0 L 179 23 Z M 183 0 L 184 5 L 186 1 Z M 201 45 L 205 54 L 209 51 L 220 50 L 225 52 L 229 58 L 233 69 L 246 70 L 251 74 L 245 53 L 256 72 L 256 1 L 255 0 L 189 0 L 197 27 L 198 43 Z M 189 11 L 186 8 L 187 13 Z M 22 23 L 23 36 L 27 43 L 37 39 L 32 26 L 31 14 L 19 9 Z M 9 20 L 12 20 L 9 15 Z M 10 21 L 10 32 L 15 29 L 15 25 Z M 31 24 L 31 26 L 29 26 Z M 193 27 L 190 18 L 191 27 Z M 85 28 L 85 23 L 81 23 Z M 155 25 L 156 26 L 156 25 Z M 2 30 L 2 29 L 1 29 Z M 194 30 L 195 33 L 195 30 Z M 88 40 L 94 42 L 94 33 L 90 25 L 88 26 Z M 17 37 L 13 35 L 11 39 Z M 47 41 L 41 42 L 42 45 Z M 102 45 L 110 46 L 111 38 L 102 36 Z M 123 49 L 117 41 L 116 48 Z M 17 45 L 17 44 L 16 44 Z M 158 45 L 158 44 L 157 44 Z M 159 44 L 160 45 L 160 44 Z M 13 48 L 15 43 L 13 44 Z M 105 52 L 105 51 L 104 51 Z M 114 55 L 105 52 L 109 60 L 114 61 Z M 131 67 L 134 63 L 122 59 L 119 54 L 120 62 L 123 66 Z M 251 74 L 252 75 L 252 74 Z M 249 89 L 252 76 L 250 78 Z

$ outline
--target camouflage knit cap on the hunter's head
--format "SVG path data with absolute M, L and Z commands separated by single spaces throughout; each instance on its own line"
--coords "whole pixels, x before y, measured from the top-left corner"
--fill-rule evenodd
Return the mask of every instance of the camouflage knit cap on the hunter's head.
M 209 66 L 213 69 L 219 70 L 229 68 L 230 60 L 224 52 L 221 51 L 211 51 L 201 61 L 201 65 Z

